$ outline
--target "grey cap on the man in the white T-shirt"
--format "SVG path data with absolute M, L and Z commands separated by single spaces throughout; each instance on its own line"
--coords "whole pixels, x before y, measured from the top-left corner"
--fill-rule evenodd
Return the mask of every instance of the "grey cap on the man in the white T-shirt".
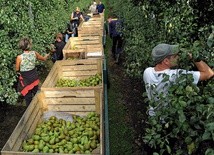
M 152 50 L 152 59 L 155 64 L 158 64 L 167 56 L 177 54 L 178 52 L 178 45 L 158 44 Z

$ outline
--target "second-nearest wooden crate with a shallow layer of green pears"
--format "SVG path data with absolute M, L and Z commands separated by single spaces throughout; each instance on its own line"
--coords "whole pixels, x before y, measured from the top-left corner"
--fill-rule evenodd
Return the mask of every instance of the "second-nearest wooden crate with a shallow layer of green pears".
M 41 86 L 45 97 L 95 96 L 103 91 L 103 60 L 56 61 Z

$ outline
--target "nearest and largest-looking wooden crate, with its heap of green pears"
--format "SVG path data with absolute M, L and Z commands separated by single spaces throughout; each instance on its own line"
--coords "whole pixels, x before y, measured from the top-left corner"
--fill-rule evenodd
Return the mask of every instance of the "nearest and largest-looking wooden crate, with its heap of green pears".
M 70 97 L 50 103 L 38 93 L 23 114 L 2 155 L 103 154 L 102 95 L 94 100 Z M 82 101 L 80 102 L 80 100 Z M 100 102 L 100 103 L 98 103 Z M 54 106 L 58 108 L 53 108 Z M 68 108 L 70 107 L 70 108 Z M 82 108 L 81 108 L 82 107 Z

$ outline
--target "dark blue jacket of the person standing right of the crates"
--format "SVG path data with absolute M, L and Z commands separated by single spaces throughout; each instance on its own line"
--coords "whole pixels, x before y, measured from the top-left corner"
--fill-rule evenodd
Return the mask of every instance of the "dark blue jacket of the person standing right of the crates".
M 121 20 L 115 18 L 109 23 L 110 37 L 122 36 L 123 23 Z

